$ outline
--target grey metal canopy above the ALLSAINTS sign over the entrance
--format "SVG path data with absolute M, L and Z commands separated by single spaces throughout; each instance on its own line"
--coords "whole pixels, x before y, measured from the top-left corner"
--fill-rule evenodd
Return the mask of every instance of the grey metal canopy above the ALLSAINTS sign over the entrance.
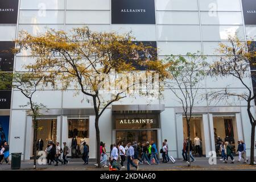
M 162 113 L 164 104 L 152 105 L 112 105 L 113 113 Z

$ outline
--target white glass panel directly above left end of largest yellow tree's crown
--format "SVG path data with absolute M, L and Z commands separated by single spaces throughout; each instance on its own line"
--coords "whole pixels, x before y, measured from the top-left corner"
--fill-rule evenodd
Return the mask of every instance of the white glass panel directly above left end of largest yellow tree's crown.
M 24 25 L 20 24 L 19 25 L 19 31 L 24 30 L 27 31 L 28 33 L 36 36 L 40 34 L 44 34 L 47 30 L 50 28 L 53 28 L 55 30 L 64 30 L 64 25 L 57 25 L 57 24 L 31 24 L 31 25 Z

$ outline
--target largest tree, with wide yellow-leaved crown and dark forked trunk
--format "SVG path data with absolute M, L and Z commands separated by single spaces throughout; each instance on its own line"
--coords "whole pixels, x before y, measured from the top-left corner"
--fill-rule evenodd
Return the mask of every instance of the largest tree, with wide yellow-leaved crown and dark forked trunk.
M 69 33 L 49 30 L 40 36 L 27 32 L 19 35 L 18 52 L 29 49 L 36 60 L 26 66 L 27 70 L 38 75 L 47 73 L 52 81 L 60 81 L 63 90 L 73 86 L 77 94 L 84 94 L 92 102 L 97 165 L 101 167 L 99 119 L 107 107 L 125 98 L 141 83 L 135 82 L 136 76 L 132 74 L 137 67 L 145 68 L 146 75 L 149 68 L 162 68 L 156 56 L 148 56 L 154 55 L 154 48 L 135 44 L 130 33 L 92 32 L 88 27 L 74 28 Z

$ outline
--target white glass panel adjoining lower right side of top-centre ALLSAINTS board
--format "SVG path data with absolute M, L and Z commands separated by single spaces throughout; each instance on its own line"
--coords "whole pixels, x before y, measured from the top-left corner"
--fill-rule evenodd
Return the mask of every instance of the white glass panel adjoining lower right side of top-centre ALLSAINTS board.
M 156 18 L 158 24 L 199 24 L 198 12 L 158 11 Z

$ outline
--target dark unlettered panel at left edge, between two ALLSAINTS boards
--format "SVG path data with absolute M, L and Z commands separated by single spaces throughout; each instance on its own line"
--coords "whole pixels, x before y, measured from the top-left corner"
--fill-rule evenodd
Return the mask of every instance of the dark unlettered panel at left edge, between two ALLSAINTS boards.
M 0 42 L 0 71 L 13 71 L 14 47 L 14 42 Z

